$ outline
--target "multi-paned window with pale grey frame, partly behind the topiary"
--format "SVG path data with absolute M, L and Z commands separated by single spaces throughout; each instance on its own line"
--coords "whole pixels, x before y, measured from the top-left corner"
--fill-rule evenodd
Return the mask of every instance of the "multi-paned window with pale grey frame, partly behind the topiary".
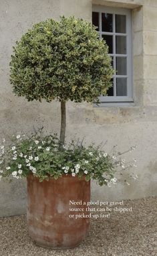
M 94 6 L 92 22 L 98 27 L 100 38 L 106 40 L 112 57 L 112 66 L 116 70 L 108 96 L 101 96 L 100 101 L 102 103 L 133 102 L 131 11 Z

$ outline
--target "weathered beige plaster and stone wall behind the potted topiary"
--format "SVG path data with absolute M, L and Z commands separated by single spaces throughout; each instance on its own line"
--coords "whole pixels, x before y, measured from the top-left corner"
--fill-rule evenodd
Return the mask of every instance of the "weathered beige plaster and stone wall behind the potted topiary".
M 112 1 L 104 1 L 111 3 Z M 157 90 L 156 68 L 151 68 L 156 62 L 157 33 L 157 3 L 156 1 L 120 1 L 132 4 L 132 8 L 143 4 L 132 11 L 133 47 L 134 47 L 134 107 L 104 107 L 96 108 L 87 103 L 67 104 L 67 139 L 70 137 L 86 137 L 87 143 L 108 141 L 106 151 L 113 145 L 123 151 L 132 145 L 138 149 L 126 158 L 138 159 L 137 173 L 139 181 L 130 186 L 119 185 L 114 188 L 100 188 L 92 184 L 92 198 L 102 200 L 120 200 L 122 198 L 141 198 L 156 194 L 156 128 L 157 128 Z M 121 3 L 120 3 L 121 2 Z M 1 70 L 1 107 L 0 135 L 10 136 L 13 132 L 32 131 L 33 125 L 47 131 L 59 131 L 58 103 L 27 103 L 25 99 L 17 98 L 11 93 L 9 85 L 9 60 L 12 46 L 21 38 L 32 23 L 59 15 L 75 15 L 91 20 L 91 0 L 27 0 L 3 1 L 1 3 L 0 29 L 0 70 Z M 98 3 L 94 0 L 94 3 Z M 133 4 L 136 3 L 136 5 Z M 130 5 L 128 5 L 130 7 Z M 153 31 L 152 31 L 153 29 Z M 154 40 L 150 40 L 148 36 Z M 150 66 L 151 65 L 151 66 Z M 151 88 L 151 90 L 150 90 Z M 25 181 L 11 184 L 0 184 L 0 216 L 20 214 L 25 212 Z

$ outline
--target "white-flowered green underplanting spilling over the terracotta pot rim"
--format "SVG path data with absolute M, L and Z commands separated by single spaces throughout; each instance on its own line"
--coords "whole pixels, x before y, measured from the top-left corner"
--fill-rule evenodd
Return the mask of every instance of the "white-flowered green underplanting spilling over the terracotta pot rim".
M 1 143 L 0 178 L 27 177 L 33 174 L 39 181 L 62 175 L 86 176 L 86 181 L 97 180 L 100 186 L 116 183 L 114 172 L 117 162 L 99 147 L 71 143 L 59 149 L 54 135 L 31 137 L 17 135 L 9 145 Z

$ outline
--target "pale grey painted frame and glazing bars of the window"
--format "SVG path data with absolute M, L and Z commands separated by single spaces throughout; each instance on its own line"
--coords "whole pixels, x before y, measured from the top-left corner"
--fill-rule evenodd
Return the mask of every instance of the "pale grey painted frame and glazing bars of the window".
M 101 103 L 122 103 L 122 105 L 127 105 L 127 103 L 134 103 L 133 98 L 133 70 L 132 70 L 132 14 L 130 9 L 125 8 L 117 8 L 117 7 L 106 7 L 102 5 L 93 5 L 92 12 L 98 12 L 99 13 L 99 31 L 98 34 L 100 35 L 100 38 L 102 38 L 102 35 L 111 35 L 113 36 L 114 40 L 114 50 L 113 54 L 110 54 L 110 56 L 123 56 L 123 54 L 116 54 L 116 36 L 126 36 L 126 54 L 124 54 L 124 57 L 127 58 L 127 73 L 126 76 L 124 75 L 115 75 L 113 76 L 113 79 L 116 78 L 127 78 L 127 96 L 100 96 L 100 102 Z M 113 14 L 113 31 L 112 32 L 104 32 L 102 31 L 102 13 L 111 13 Z M 120 34 L 116 33 L 116 27 L 115 27 L 115 18 L 116 14 L 118 15 L 126 15 L 126 34 Z M 116 58 L 114 58 L 114 70 L 116 70 Z M 114 83 L 114 86 L 116 84 Z M 114 88 L 115 90 L 116 88 Z

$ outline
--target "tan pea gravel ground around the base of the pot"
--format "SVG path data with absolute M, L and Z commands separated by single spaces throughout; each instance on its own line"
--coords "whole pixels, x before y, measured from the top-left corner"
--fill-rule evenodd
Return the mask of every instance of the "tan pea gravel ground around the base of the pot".
M 0 218 L 0 255 L 156 256 L 157 200 L 124 201 L 124 207 L 131 206 L 132 212 L 113 212 L 110 218 L 91 219 L 90 232 L 79 247 L 58 251 L 35 246 L 27 233 L 25 215 Z

